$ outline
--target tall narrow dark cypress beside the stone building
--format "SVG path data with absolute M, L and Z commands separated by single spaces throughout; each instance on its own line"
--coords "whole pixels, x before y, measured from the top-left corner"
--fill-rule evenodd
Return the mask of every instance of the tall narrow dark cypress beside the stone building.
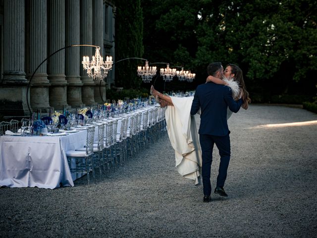
M 141 78 L 136 68 L 143 56 L 143 15 L 140 0 L 116 1 L 115 25 L 115 83 L 117 87 L 140 88 Z M 142 62 L 144 63 L 144 62 Z

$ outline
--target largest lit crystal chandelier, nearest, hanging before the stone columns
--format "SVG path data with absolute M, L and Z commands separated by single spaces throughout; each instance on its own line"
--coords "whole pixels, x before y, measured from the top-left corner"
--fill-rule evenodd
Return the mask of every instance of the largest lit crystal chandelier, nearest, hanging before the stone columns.
M 89 77 L 94 80 L 102 80 L 106 78 L 108 71 L 112 68 L 112 57 L 107 56 L 106 61 L 103 61 L 103 57 L 100 55 L 100 47 L 96 47 L 95 56 L 93 56 L 93 60 L 89 60 L 89 56 L 83 57 L 83 67 L 87 70 L 87 74 Z

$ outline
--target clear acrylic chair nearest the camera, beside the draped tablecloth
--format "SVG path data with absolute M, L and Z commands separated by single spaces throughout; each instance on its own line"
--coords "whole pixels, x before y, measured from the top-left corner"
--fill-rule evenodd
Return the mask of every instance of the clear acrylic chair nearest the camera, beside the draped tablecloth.
M 90 183 L 89 173 L 92 172 L 95 178 L 93 155 L 94 155 L 94 136 L 95 126 L 87 128 L 86 147 L 85 151 L 69 150 L 66 151 L 67 161 L 70 173 L 76 174 L 76 179 L 79 175 L 87 175 L 88 185 Z M 72 161 L 75 161 L 75 166 L 72 166 Z

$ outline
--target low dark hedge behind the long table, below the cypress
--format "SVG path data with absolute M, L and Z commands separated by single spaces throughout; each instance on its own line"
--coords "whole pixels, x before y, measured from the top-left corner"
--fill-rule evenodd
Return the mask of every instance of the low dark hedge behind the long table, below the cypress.
M 147 98 L 149 97 L 149 89 L 145 88 L 140 88 L 140 89 L 123 89 L 121 91 L 116 91 L 114 89 L 107 89 L 106 95 L 107 99 L 110 100 L 123 100 L 124 98 L 137 98 L 137 97 L 142 97 L 142 98 Z

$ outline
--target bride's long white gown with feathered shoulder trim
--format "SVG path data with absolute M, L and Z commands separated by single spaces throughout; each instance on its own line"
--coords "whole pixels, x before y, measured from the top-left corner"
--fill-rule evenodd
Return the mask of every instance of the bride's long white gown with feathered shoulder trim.
M 235 91 L 234 86 L 229 86 Z M 165 119 L 168 137 L 175 150 L 176 169 L 184 178 L 192 179 L 195 184 L 199 184 L 202 152 L 195 116 L 190 115 L 194 97 L 171 97 L 171 99 L 174 106 L 167 107 Z M 227 119 L 231 115 L 232 112 L 227 109 Z

